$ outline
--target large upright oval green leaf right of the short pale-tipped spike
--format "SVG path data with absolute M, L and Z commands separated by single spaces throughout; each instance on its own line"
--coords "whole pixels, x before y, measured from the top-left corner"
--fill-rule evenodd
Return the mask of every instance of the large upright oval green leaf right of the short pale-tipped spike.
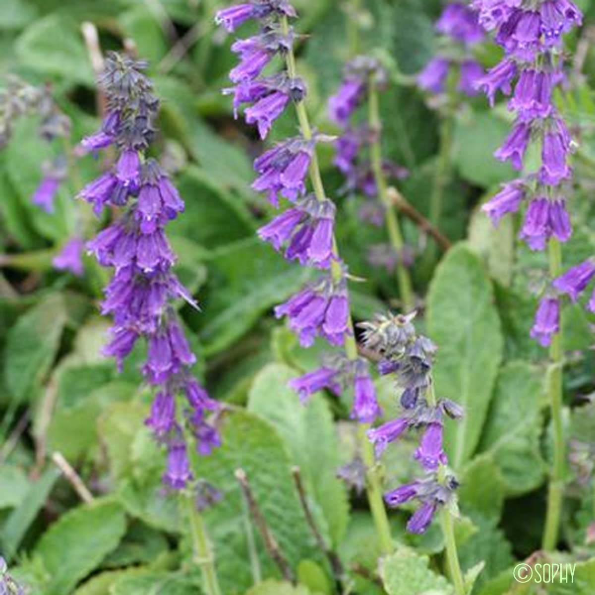
M 453 399 L 465 416 L 447 424 L 445 443 L 455 469 L 471 458 L 486 420 L 503 338 L 493 290 L 478 256 L 464 244 L 450 249 L 430 284 L 428 333 L 438 346 L 438 396 Z

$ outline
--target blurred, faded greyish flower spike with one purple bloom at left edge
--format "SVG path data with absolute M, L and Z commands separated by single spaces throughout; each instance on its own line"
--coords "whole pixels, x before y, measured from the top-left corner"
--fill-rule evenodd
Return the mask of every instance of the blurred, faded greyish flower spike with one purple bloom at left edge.
M 15 121 L 33 112 L 41 118 L 39 136 L 45 142 L 70 135 L 70 118 L 62 114 L 48 86 L 33 87 L 16 77 L 9 77 L 7 88 L 0 91 L 0 148 L 8 143 Z M 58 188 L 68 173 L 67 158 L 58 155 L 43 162 L 42 173 L 42 181 L 33 193 L 32 201 L 51 213 Z

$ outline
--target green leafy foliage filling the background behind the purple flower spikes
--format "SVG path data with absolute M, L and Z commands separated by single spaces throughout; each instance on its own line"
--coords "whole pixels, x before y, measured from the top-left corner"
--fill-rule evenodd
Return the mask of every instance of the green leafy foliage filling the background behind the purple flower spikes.
M 314 121 L 328 133 L 336 130 L 326 120 L 325 102 L 350 55 L 343 4 L 295 2 L 302 15 L 298 29 L 311 35 L 300 43 L 299 70 L 308 82 Z M 588 27 L 593 23 L 591 2 L 578 4 Z M 80 24 L 96 24 L 105 51 L 131 39 L 139 56 L 151 62 L 150 74 L 162 98 L 159 151 L 179 160 L 176 183 L 186 201 L 186 212 L 170 227 L 179 255 L 177 271 L 202 306 L 201 312 L 184 308 L 181 314 L 199 355 L 198 373 L 209 392 L 232 407 L 224 419 L 224 446 L 210 458 L 194 461 L 196 472 L 225 494 L 207 513 L 224 593 L 245 593 L 255 576 L 247 538 L 253 527 L 233 477 L 239 466 L 248 472 L 303 584 L 302 590 L 292 590 L 264 583 L 249 593 L 331 593 L 325 560 L 303 520 L 291 466 L 302 469 L 318 523 L 347 563 L 356 560 L 374 568 L 375 538 L 363 500 L 347 493 L 335 477 L 337 466 L 349 461 L 354 449 L 347 403 L 318 396 L 302 408 L 286 388 L 288 378 L 312 367 L 318 348 L 300 349 L 271 317 L 271 307 L 295 292 L 305 273 L 255 237 L 272 212 L 250 190 L 251 160 L 261 143 L 233 120 L 230 101 L 220 93 L 228 85 L 233 36 L 214 30 L 210 15 L 217 7 L 212 0 L 3 0 L 0 71 L 32 84 L 50 83 L 71 117 L 77 142 L 98 126 L 95 77 Z M 365 7 L 364 46 L 383 57 L 392 74 L 381 105 L 384 152 L 409 169 L 400 189 L 419 211 L 427 212 L 439 158 L 439 118 L 407 77 L 436 51 L 433 22 L 440 2 L 367 0 Z M 171 23 L 176 37 L 192 31 L 198 39 L 173 65 Z M 576 43 L 571 39 L 571 46 Z M 486 65 L 496 62 L 494 47 L 482 52 Z M 580 126 L 583 156 L 575 164 L 577 231 L 564 250 L 566 264 L 594 252 L 589 200 L 594 181 L 590 159 L 595 155 L 589 83 L 594 67 L 589 50 L 585 75 L 576 76 L 571 90 L 558 98 L 565 116 L 577 130 Z M 77 176 L 60 192 L 57 213 L 40 211 L 30 196 L 51 149 L 39 142 L 37 124 L 35 118 L 19 121 L 14 138 L 0 152 L 0 550 L 34 593 L 197 593 L 198 574 L 177 502 L 159 492 L 162 453 L 143 427 L 150 396 L 140 386 L 134 363 L 142 354 L 131 358 L 122 374 L 98 355 L 108 321 L 98 315 L 102 280 L 94 276 L 90 261 L 83 280 L 51 269 L 52 255 L 72 231 L 73 196 L 101 163 L 79 161 Z M 477 214 L 484 196 L 512 177 L 491 156 L 508 125 L 503 106 L 488 111 L 483 98 L 459 108 L 441 230 L 460 243 L 446 255 L 436 252 L 441 258 L 437 268 L 437 262 L 424 261 L 412 271 L 423 297 L 419 324 L 440 347 L 439 392 L 468 411 L 463 424 L 448 428 L 447 443 L 462 481 L 457 535 L 462 565 L 468 570 L 484 561 L 474 590 L 481 595 L 508 593 L 515 560 L 539 547 L 549 453 L 546 353 L 528 337 L 536 306 L 531 280 L 544 264 L 543 255 L 517 245 L 518 221 L 503 221 L 494 232 Z M 287 111 L 274 127 L 273 140 L 294 131 Z M 328 192 L 336 195 L 342 181 L 331 165 L 331 148 L 323 151 Z M 342 254 L 350 271 L 365 278 L 351 288 L 355 317 L 364 320 L 398 304 L 397 284 L 392 275 L 369 267 L 365 258 L 367 246 L 384 241 L 383 231 L 362 227 L 357 198 L 338 200 Z M 426 240 L 417 228 L 407 221 L 403 227 L 408 242 L 423 250 Z M 580 306 L 568 308 L 564 320 L 570 354 L 566 421 L 575 436 L 593 436 L 593 406 L 583 400 L 593 390 L 592 322 Z M 390 415 L 394 388 L 383 381 L 378 387 Z M 80 505 L 70 484 L 46 460 L 55 451 L 79 469 L 96 496 L 91 505 Z M 411 476 L 410 453 L 407 443 L 389 449 L 383 461 L 387 486 Z M 592 490 L 575 488 L 563 522 L 569 548 L 565 556 L 593 556 L 593 546 L 585 545 L 592 510 Z M 381 567 L 387 593 L 411 595 L 430 588 L 448 593 L 435 572 L 441 568 L 443 548 L 436 527 L 424 537 L 412 537 L 404 531 L 402 512 L 392 513 L 391 519 L 402 546 Z M 255 539 L 258 572 L 277 577 L 259 537 Z M 406 545 L 415 546 L 417 553 Z M 433 556 L 430 567 L 424 555 Z M 569 592 L 595 592 L 592 560 L 579 563 L 581 582 Z M 381 592 L 372 582 L 353 577 L 358 592 Z

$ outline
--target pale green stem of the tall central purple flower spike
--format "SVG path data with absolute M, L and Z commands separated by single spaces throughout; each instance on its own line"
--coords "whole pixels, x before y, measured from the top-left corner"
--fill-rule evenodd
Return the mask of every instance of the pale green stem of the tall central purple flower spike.
M 287 35 L 289 33 L 289 25 L 287 24 L 287 18 L 281 19 L 281 28 L 283 33 Z M 297 76 L 295 56 L 293 50 L 290 49 L 286 54 L 287 74 L 290 78 L 294 79 Z M 308 119 L 308 112 L 306 106 L 302 101 L 295 103 L 297 120 L 299 121 L 300 130 L 302 136 L 306 140 L 312 138 L 312 127 Z M 312 159 L 310 162 L 310 180 L 312 182 L 312 189 L 314 194 L 319 201 L 324 201 L 326 195 L 324 192 L 324 185 L 322 184 L 322 176 L 320 173 L 320 166 L 318 165 L 318 155 L 316 148 L 312 150 Z M 343 278 L 343 271 L 339 262 L 339 249 L 337 248 L 337 241 L 333 237 L 333 252 L 337 258 L 334 258 L 331 263 L 331 275 L 335 281 L 339 281 Z M 353 330 L 353 321 L 351 315 L 349 315 L 348 321 L 349 333 L 345 336 L 345 353 L 347 358 L 355 360 L 358 358 L 358 346 L 355 342 L 355 332 Z M 372 446 L 365 433 L 365 425 L 362 425 L 359 430 L 359 443 L 362 450 L 362 457 L 368 468 L 367 471 L 367 494 L 368 503 L 372 512 L 372 518 L 376 527 L 376 532 L 380 540 L 381 548 L 383 553 L 390 553 L 393 550 L 392 538 L 390 536 L 390 525 L 389 518 L 386 514 L 386 508 L 384 508 L 384 502 L 382 499 L 382 485 L 380 481 L 380 475 L 378 474 L 378 468 L 374 461 L 374 453 L 372 452 Z

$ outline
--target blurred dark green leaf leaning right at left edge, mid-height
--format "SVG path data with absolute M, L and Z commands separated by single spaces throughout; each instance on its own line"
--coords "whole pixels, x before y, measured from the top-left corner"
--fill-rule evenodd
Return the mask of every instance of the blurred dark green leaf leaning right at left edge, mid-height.
M 21 316 L 8 332 L 4 381 L 17 401 L 33 399 L 54 361 L 67 320 L 60 293 L 53 293 Z

